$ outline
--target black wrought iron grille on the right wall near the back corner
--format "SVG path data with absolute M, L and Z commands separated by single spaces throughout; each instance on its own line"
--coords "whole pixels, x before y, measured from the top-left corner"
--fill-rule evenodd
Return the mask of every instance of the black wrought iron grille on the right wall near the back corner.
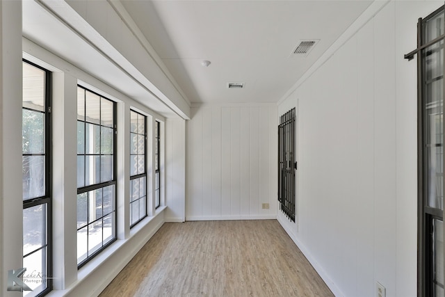
M 278 126 L 278 201 L 280 209 L 295 222 L 295 108 L 280 117 Z

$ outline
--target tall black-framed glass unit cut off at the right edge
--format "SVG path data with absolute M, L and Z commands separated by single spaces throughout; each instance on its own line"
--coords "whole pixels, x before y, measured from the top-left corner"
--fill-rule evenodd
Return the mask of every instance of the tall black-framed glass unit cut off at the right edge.
M 417 24 L 418 296 L 444 296 L 444 6 Z

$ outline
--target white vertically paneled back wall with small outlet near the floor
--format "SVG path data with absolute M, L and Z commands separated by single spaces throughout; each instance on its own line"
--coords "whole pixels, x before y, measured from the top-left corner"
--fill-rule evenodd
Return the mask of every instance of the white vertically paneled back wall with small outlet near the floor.
M 206 104 L 191 113 L 186 220 L 275 218 L 277 106 Z

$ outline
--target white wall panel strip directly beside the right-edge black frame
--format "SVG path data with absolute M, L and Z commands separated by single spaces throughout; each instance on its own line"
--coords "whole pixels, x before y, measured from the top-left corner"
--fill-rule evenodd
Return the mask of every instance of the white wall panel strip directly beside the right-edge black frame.
M 430 3 L 431 13 L 444 3 Z M 396 292 L 398 296 L 409 296 L 416 291 L 415 261 L 417 257 L 417 222 L 412 218 L 417 217 L 417 184 L 416 164 L 406 160 L 417 159 L 417 98 L 413 96 L 417 92 L 416 59 L 406 61 L 398 58 L 406 54 L 407 49 L 416 47 L 416 38 L 412 38 L 407 28 L 411 28 L 417 22 L 417 18 L 426 17 L 425 3 L 410 1 L 407 3 L 396 2 Z M 419 13 L 424 10 L 426 13 Z M 412 12 L 416 13 L 412 13 Z M 413 30 L 414 31 L 414 30 Z M 403 273 L 399 273 L 403 271 Z

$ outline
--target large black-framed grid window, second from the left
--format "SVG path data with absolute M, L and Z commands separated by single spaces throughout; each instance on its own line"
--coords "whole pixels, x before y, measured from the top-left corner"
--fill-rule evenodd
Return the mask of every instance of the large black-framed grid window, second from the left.
M 116 239 L 116 104 L 77 87 L 77 265 Z

